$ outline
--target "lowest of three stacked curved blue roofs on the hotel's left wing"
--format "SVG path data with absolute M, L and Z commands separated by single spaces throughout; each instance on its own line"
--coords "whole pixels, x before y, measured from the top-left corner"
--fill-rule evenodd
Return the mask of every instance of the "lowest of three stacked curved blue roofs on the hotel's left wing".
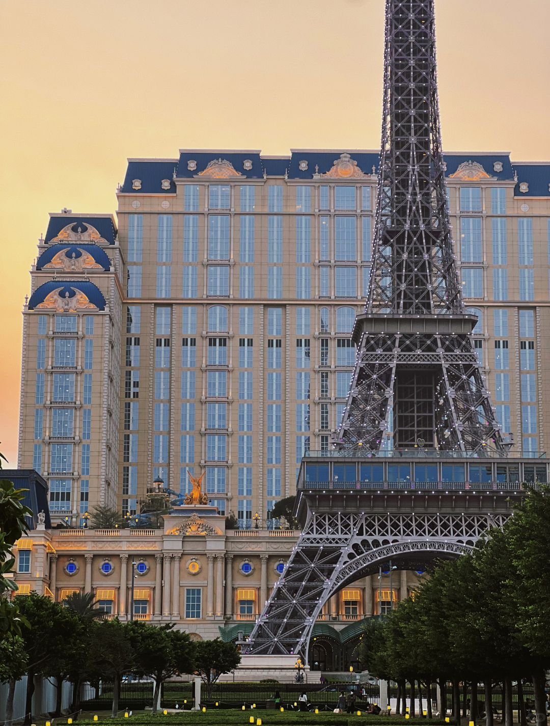
M 28 309 L 62 313 L 104 310 L 106 304 L 102 291 L 93 282 L 51 280 L 30 295 Z

